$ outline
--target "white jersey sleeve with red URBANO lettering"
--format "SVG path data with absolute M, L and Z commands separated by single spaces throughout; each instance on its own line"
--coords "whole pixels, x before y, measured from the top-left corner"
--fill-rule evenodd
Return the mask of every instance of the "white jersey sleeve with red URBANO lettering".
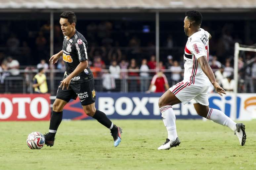
M 205 53 L 204 44 L 200 41 L 191 42 L 189 50 L 194 54 L 196 59 L 202 56 L 207 56 L 207 54 Z

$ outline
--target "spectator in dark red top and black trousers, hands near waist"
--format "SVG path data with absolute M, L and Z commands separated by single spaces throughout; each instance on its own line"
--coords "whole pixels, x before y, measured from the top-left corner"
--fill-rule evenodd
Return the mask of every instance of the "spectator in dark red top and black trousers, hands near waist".
M 136 76 L 139 76 L 139 67 L 135 59 L 131 59 L 128 71 L 128 76 L 131 78 L 131 80 L 129 80 L 129 91 L 137 92 L 138 79 L 136 79 Z

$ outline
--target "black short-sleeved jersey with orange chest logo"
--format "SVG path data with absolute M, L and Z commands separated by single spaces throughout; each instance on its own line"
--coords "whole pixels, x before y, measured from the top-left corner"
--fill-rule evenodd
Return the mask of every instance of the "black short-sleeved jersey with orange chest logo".
M 69 40 L 67 40 L 67 36 L 64 37 L 62 56 L 66 68 L 64 78 L 73 72 L 81 61 L 88 60 L 87 47 L 86 39 L 78 31 L 75 31 L 75 34 Z M 88 66 L 84 71 L 73 77 L 70 83 L 82 83 L 91 79 L 93 79 L 93 74 Z

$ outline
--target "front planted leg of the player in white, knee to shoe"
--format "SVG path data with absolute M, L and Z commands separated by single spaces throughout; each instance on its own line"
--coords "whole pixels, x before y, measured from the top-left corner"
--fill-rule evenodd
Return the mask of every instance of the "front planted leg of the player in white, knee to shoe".
M 170 149 L 180 144 L 176 130 L 176 117 L 172 109 L 172 105 L 180 102 L 181 101 L 170 90 L 167 90 L 158 101 L 163 123 L 168 132 L 168 138 L 165 143 L 158 148 L 158 150 Z

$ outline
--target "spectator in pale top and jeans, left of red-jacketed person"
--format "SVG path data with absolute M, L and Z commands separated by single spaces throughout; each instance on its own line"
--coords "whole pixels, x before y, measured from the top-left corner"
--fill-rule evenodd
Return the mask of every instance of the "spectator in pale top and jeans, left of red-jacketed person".
M 141 76 L 141 92 L 146 92 L 149 88 L 149 67 L 147 66 L 147 60 L 143 59 L 141 68 L 140 68 L 140 76 Z

